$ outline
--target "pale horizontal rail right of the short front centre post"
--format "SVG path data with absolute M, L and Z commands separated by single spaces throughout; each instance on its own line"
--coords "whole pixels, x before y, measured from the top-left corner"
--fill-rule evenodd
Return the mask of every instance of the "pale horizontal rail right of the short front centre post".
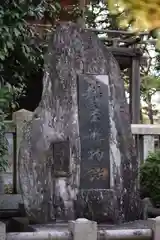
M 104 240 L 152 240 L 151 229 L 101 230 L 100 235 Z

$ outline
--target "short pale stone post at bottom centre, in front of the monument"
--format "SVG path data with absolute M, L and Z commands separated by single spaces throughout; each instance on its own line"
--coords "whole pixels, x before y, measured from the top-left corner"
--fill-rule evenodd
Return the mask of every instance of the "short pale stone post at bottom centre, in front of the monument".
M 85 218 L 69 222 L 73 240 L 97 240 L 97 223 Z

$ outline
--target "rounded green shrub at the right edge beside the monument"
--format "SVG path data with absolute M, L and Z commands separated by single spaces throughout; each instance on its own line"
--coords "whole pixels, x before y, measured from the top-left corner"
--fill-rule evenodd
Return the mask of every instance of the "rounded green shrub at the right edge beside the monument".
M 160 150 L 150 153 L 140 168 L 141 194 L 160 204 Z

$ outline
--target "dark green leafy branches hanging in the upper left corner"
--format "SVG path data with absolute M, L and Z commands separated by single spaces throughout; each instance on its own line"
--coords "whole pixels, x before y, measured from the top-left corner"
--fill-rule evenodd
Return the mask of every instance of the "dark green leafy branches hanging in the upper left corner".
M 54 21 L 60 5 L 47 0 L 1 2 L 0 82 L 20 88 L 21 95 L 26 83 L 43 68 L 44 44 L 32 23 L 44 18 Z

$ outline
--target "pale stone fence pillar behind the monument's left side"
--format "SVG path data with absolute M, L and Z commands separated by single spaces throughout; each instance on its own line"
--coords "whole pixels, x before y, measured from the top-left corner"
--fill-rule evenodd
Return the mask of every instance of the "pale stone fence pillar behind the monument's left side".
M 21 109 L 15 113 L 13 113 L 13 121 L 16 125 L 16 162 L 13 163 L 13 182 L 16 183 L 16 189 L 17 192 L 19 192 L 19 183 L 18 183 L 18 154 L 19 154 L 19 148 L 20 144 L 23 138 L 23 127 L 26 124 L 26 122 L 30 121 L 32 119 L 33 113 L 30 111 L 27 111 L 25 109 Z M 13 184 L 14 184 L 13 183 Z

